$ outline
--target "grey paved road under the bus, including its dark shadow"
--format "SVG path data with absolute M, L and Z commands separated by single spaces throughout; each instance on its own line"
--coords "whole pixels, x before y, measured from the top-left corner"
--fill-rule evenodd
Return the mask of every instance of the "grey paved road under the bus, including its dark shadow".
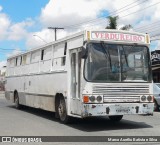
M 154 116 L 124 116 L 114 123 L 107 117 L 81 120 L 64 125 L 54 113 L 39 109 L 17 110 L 0 93 L 0 136 L 159 136 L 160 112 Z M 58 144 L 58 143 L 57 143 Z M 59 143 L 78 144 L 78 143 Z M 82 144 L 82 143 L 81 143 Z M 88 144 L 88 143 L 84 143 Z M 92 143 L 93 144 L 93 143 Z M 98 143 L 95 143 L 98 144 Z M 102 143 L 101 143 L 102 144 Z M 103 143 L 106 144 L 106 143 Z M 107 143 L 108 144 L 108 143 Z M 120 144 L 120 143 L 114 143 Z M 128 143 L 127 143 L 128 144 Z M 136 143 L 131 143 L 136 144 Z M 146 144 L 146 143 L 142 143 Z

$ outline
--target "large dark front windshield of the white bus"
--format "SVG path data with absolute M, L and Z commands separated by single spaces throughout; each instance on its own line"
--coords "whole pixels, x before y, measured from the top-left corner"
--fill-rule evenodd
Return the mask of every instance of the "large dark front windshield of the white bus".
M 89 43 L 84 77 L 90 82 L 151 81 L 146 46 Z

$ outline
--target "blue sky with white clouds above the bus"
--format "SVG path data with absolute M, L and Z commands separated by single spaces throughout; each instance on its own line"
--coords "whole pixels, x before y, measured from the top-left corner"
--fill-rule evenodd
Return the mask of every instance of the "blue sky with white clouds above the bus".
M 48 27 L 63 27 L 60 39 L 103 29 L 108 16 L 119 16 L 118 28 L 131 24 L 132 31 L 149 33 L 150 50 L 160 49 L 159 9 L 160 0 L 0 0 L 0 68 L 7 57 L 54 41 Z

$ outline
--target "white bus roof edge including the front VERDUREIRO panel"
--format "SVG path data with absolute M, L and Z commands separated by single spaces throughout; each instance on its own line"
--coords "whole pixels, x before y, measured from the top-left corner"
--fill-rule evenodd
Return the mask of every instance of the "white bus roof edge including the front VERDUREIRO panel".
M 76 34 L 64 37 L 57 41 L 49 42 L 45 45 L 27 50 L 26 52 L 22 52 L 13 56 L 8 57 L 8 59 L 17 57 L 19 55 L 24 55 L 29 52 L 36 51 L 38 49 L 43 49 L 47 46 L 58 44 L 61 42 L 66 42 L 69 39 L 84 36 L 84 41 L 106 41 L 106 42 L 114 42 L 114 43 L 138 43 L 138 44 L 150 44 L 150 38 L 148 34 L 126 31 L 126 30 L 114 30 L 114 29 L 92 29 L 92 30 L 84 30 L 78 32 Z

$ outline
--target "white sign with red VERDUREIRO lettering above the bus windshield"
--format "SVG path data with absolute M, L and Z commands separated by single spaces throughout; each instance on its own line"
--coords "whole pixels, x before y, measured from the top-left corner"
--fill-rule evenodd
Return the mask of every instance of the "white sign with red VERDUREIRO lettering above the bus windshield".
M 145 35 L 134 35 L 125 33 L 113 33 L 105 31 L 94 31 L 91 33 L 91 38 L 94 40 L 112 40 L 112 41 L 127 41 L 134 43 L 145 43 Z

